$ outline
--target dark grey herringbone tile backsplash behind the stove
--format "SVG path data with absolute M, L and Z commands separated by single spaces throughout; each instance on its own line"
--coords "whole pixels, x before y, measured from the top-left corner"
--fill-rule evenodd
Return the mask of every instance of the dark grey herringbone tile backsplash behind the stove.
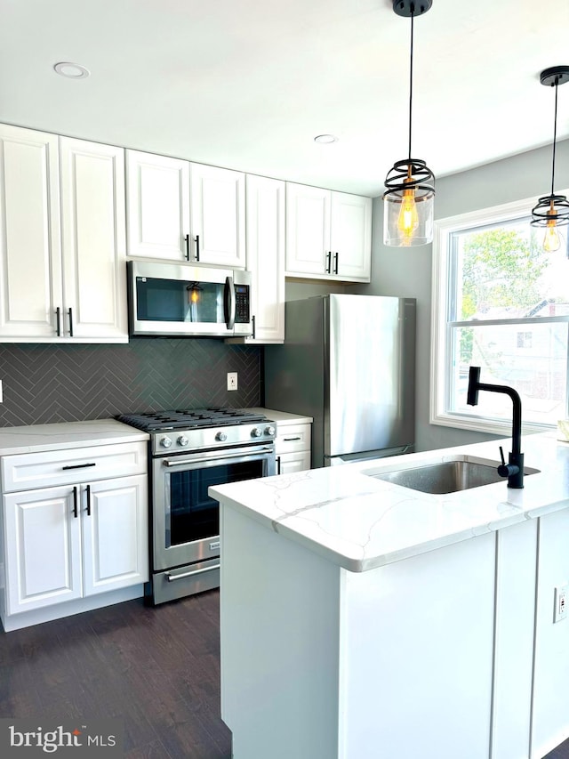
M 260 405 L 261 349 L 207 338 L 127 345 L 0 344 L 0 426 L 169 408 Z M 227 373 L 238 389 L 227 391 Z

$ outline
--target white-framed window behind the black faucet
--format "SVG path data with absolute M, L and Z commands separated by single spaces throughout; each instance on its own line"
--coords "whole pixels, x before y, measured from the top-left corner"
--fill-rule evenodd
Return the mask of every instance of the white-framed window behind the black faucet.
M 563 234 L 556 253 L 542 249 L 533 202 L 435 222 L 431 424 L 511 431 L 507 395 L 480 392 L 467 406 L 469 366 L 517 390 L 525 430 L 567 416 L 569 248 Z

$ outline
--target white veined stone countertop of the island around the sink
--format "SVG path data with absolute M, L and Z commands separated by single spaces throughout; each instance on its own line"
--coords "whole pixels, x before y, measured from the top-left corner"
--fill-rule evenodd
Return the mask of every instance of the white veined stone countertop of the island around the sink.
M 210 488 L 269 529 L 353 572 L 363 572 L 569 506 L 569 442 L 555 432 L 522 439 L 524 489 L 507 481 L 444 496 L 378 480 L 381 472 L 469 456 L 499 462 L 511 440 L 392 456 Z

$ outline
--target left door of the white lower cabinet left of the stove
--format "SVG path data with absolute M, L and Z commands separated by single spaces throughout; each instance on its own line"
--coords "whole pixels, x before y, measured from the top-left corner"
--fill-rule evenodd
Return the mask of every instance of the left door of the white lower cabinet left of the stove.
M 82 595 L 80 515 L 74 488 L 4 496 L 7 613 Z

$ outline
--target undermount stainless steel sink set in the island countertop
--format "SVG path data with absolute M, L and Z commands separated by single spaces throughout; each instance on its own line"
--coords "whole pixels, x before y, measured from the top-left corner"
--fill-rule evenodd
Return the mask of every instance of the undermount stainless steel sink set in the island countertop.
M 456 493 L 459 490 L 481 488 L 483 485 L 492 485 L 494 482 L 507 483 L 507 480 L 497 472 L 499 465 L 498 461 L 475 461 L 471 458 L 456 456 L 453 460 L 422 464 L 413 469 L 368 470 L 364 473 L 378 480 L 393 482 L 402 488 L 420 490 L 421 493 L 432 495 L 444 495 Z M 539 471 L 539 469 L 525 467 L 524 475 L 536 474 Z

